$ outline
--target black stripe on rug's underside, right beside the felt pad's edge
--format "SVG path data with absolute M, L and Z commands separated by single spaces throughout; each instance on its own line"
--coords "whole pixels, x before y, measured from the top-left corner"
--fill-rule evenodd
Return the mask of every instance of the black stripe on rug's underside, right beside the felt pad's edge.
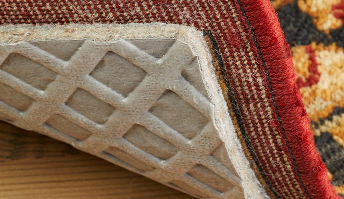
M 210 42 L 211 42 L 211 44 L 212 44 L 212 46 L 214 48 L 214 52 L 215 52 L 218 64 L 220 66 L 220 69 L 221 69 L 222 77 L 224 79 L 224 82 L 226 83 L 226 87 L 228 88 L 228 93 L 227 94 L 228 94 L 228 97 L 229 97 L 230 101 L 232 102 L 232 107 L 233 107 L 234 115 L 235 115 L 236 120 L 237 120 L 237 122 L 239 124 L 240 132 L 241 132 L 241 134 L 243 135 L 243 137 L 245 139 L 246 145 L 248 146 L 248 151 L 250 152 L 250 154 L 251 154 L 251 156 L 253 158 L 253 161 L 257 165 L 260 174 L 262 174 L 262 177 L 263 177 L 265 183 L 269 186 L 270 190 L 274 193 L 274 195 L 278 199 L 280 199 L 280 197 L 278 196 L 276 191 L 273 189 L 273 187 L 271 185 L 271 182 L 267 178 L 267 176 L 266 176 L 266 174 L 265 174 L 265 172 L 263 170 L 263 167 L 262 167 L 261 163 L 258 160 L 258 157 L 256 156 L 256 154 L 254 152 L 251 140 L 248 138 L 248 135 L 247 135 L 246 130 L 245 130 L 244 122 L 243 122 L 243 120 L 241 118 L 241 115 L 240 115 L 240 109 L 239 109 L 239 107 L 237 105 L 237 102 L 236 102 L 236 100 L 234 98 L 234 94 L 233 94 L 233 91 L 232 91 L 232 86 L 230 85 L 229 80 L 228 80 L 228 72 L 227 72 L 227 69 L 226 69 L 226 67 L 224 65 L 224 62 L 222 60 L 222 56 L 221 56 L 219 47 L 217 45 L 216 39 L 215 39 L 215 37 L 213 36 L 213 34 L 211 33 L 210 30 L 209 31 L 203 31 L 203 35 L 204 36 L 205 35 L 209 36 Z

